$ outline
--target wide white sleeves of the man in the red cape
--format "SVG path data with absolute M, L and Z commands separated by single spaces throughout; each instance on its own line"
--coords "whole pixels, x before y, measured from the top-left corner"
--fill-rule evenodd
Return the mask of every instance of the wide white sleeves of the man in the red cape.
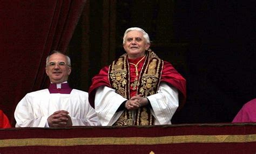
M 154 124 L 171 124 L 171 118 L 179 106 L 178 90 L 161 82 L 157 94 L 147 96 L 152 106 L 151 113 L 155 118 Z M 106 86 L 97 88 L 95 95 L 95 111 L 99 125 L 113 125 L 123 111 L 116 113 L 122 102 L 123 96 L 115 93 L 115 90 Z

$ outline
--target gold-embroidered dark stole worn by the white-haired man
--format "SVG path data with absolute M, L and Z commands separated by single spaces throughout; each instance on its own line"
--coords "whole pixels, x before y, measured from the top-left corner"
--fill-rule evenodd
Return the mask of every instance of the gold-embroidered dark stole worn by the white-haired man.
M 137 95 L 144 97 L 157 93 L 161 72 L 164 62 L 157 55 L 149 50 L 146 52 L 146 59 L 139 75 Z M 130 67 L 127 54 L 123 54 L 109 66 L 109 82 L 116 93 L 127 100 L 130 99 Z M 154 117 L 148 106 L 140 107 L 137 110 L 125 109 L 114 125 L 153 125 Z

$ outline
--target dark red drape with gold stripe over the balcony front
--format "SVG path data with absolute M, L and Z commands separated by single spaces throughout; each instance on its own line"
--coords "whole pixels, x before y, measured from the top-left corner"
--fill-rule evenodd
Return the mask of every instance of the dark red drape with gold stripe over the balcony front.
M 256 124 L 0 129 L 1 153 L 255 153 Z

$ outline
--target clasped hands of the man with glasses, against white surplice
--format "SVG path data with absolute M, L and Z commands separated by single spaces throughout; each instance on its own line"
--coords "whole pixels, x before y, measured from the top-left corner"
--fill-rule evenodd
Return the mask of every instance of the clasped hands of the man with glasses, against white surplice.
M 69 116 L 69 112 L 65 110 L 55 111 L 47 119 L 50 127 L 69 127 L 72 126 L 72 120 Z

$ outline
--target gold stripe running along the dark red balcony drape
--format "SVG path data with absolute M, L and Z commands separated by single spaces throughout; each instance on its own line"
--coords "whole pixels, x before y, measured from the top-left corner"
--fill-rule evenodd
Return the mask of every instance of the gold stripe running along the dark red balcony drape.
M 251 135 L 185 135 L 164 137 L 84 137 L 0 139 L 0 148 L 9 146 L 75 146 L 75 145 L 156 145 L 174 143 L 246 143 L 256 142 Z

